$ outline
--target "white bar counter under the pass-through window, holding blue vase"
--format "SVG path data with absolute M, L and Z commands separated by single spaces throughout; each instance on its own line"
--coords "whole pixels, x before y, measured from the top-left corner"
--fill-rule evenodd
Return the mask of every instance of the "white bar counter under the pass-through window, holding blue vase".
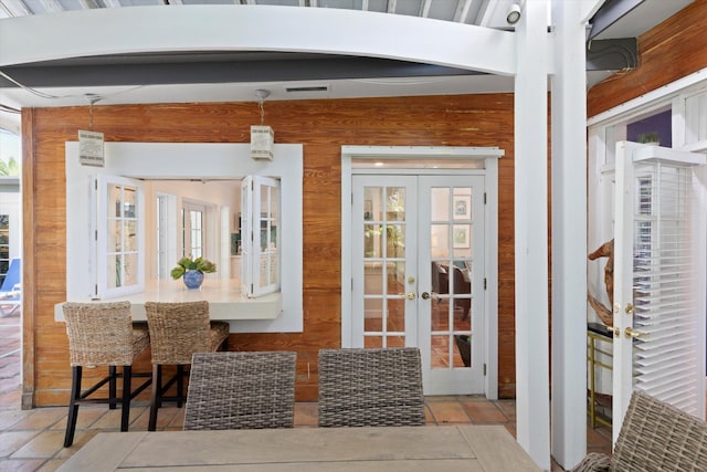
M 211 319 L 275 319 L 283 312 L 282 293 L 247 298 L 241 294 L 239 281 L 235 279 L 204 280 L 201 289 L 188 290 L 181 280 L 148 281 L 145 292 L 125 295 L 110 300 L 71 300 L 71 302 L 130 302 L 133 321 L 147 321 L 145 302 L 209 302 Z M 64 321 L 63 303 L 54 305 L 54 319 Z

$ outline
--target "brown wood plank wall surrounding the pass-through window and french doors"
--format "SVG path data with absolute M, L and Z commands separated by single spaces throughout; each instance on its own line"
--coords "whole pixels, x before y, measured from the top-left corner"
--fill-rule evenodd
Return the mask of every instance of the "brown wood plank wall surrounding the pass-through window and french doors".
M 275 130 L 275 141 L 304 144 L 304 333 L 232 334 L 229 347 L 296 350 L 297 401 L 315 401 L 317 352 L 339 347 L 341 340 L 340 147 L 498 146 L 506 151 L 499 166 L 498 380 L 499 396 L 515 397 L 513 107 L 511 94 L 266 102 L 265 123 Z M 107 141 L 249 143 L 250 125 L 260 122 L 255 103 L 93 109 L 93 128 Z M 23 113 L 32 118 L 24 124 L 33 136 L 23 169 L 33 189 L 25 200 L 33 217 L 24 223 L 25 234 L 32 234 L 24 258 L 25 266 L 34 268 L 25 286 L 34 290 L 25 301 L 24 326 L 34 329 L 34 405 L 66 405 L 67 340 L 63 323 L 53 315 L 66 290 L 64 141 L 76 140 L 89 114 L 88 107 Z M 136 368 L 148 366 L 145 355 Z

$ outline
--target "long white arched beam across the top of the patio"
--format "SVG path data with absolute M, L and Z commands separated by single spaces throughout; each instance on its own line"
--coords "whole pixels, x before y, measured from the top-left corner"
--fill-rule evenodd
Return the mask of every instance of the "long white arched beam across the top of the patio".
M 41 32 L 41 34 L 38 34 Z M 344 54 L 515 75 L 514 33 L 334 8 L 177 6 L 94 9 L 2 20 L 0 67 L 168 51 Z

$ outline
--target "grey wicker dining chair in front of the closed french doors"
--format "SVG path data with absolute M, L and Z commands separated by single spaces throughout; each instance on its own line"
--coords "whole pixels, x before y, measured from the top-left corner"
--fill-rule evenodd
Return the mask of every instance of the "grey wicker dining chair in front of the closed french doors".
M 416 347 L 319 350 L 319 426 L 424 426 Z

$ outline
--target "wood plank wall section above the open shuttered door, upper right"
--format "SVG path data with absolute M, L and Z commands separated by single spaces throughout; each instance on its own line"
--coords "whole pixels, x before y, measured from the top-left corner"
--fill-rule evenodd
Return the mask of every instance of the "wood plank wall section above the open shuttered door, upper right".
M 688 7 L 639 38 L 639 67 L 616 73 L 588 94 L 588 116 L 707 67 L 707 0 Z

